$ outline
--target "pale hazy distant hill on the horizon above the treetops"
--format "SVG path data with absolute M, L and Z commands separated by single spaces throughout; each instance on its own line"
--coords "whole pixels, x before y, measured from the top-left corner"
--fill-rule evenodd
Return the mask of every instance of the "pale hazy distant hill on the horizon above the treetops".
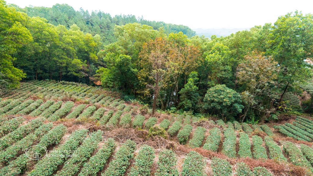
M 194 31 L 196 31 L 196 35 L 201 36 L 204 35 L 205 37 L 210 38 L 212 35 L 216 35 L 217 37 L 221 37 L 221 36 L 228 36 L 232 33 L 236 33 L 237 31 L 243 31 L 243 30 L 249 30 L 250 28 L 232 28 L 232 29 L 226 29 L 226 28 L 222 28 L 222 29 L 202 29 L 202 28 L 198 28 L 198 29 L 192 29 Z

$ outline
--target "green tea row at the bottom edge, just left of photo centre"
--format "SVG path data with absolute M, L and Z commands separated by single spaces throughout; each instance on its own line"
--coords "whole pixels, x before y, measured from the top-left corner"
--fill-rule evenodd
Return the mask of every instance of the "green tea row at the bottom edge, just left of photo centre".
M 129 176 L 150 176 L 150 170 L 155 158 L 155 151 L 148 145 L 142 145 L 138 155 L 136 155 L 135 163 L 128 173 Z

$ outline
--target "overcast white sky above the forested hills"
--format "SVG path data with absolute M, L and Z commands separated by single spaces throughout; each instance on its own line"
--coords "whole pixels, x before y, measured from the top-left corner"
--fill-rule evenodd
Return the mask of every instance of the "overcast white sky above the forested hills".
M 20 7 L 52 7 L 67 3 L 75 10 L 101 10 L 116 14 L 143 16 L 147 20 L 183 24 L 195 28 L 250 28 L 274 23 L 278 16 L 295 10 L 313 13 L 313 0 L 7 0 Z

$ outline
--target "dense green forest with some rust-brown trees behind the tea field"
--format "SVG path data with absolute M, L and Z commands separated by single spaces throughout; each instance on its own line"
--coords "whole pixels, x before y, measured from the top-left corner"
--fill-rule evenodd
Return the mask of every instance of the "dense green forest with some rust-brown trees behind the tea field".
M 121 92 L 156 108 L 260 122 L 310 109 L 284 102 L 312 79 L 313 16 L 295 11 L 227 37 L 67 4 L 0 0 L 1 90 L 60 80 Z M 279 111 L 277 111 L 279 110 Z M 310 110 L 308 110 L 310 111 Z

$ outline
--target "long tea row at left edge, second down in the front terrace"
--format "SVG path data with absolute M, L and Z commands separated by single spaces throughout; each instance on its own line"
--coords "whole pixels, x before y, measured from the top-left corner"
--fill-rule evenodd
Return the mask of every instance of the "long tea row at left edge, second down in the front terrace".
M 18 122 L 23 122 L 24 119 L 21 119 Z M 40 127 L 43 124 L 43 118 L 36 118 L 25 125 L 18 127 L 16 130 L 8 133 L 6 136 L 0 139 L 0 149 L 3 150 L 18 140 L 24 138 L 29 133 L 32 133 L 36 128 Z M 13 121 L 15 123 L 16 121 Z

